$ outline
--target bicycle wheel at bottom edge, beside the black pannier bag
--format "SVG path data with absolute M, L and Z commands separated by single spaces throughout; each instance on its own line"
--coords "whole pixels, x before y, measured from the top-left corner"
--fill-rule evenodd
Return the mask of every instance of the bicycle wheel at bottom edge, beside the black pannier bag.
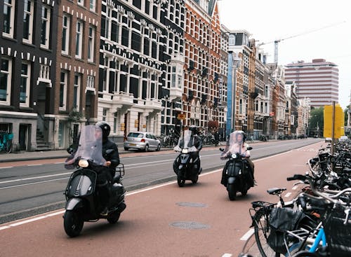
M 267 237 L 270 235 L 270 214 L 266 209 L 260 209 L 256 212 L 253 226 L 255 230 L 255 239 L 263 257 L 279 257 L 280 253 L 276 253 L 269 244 L 267 244 Z

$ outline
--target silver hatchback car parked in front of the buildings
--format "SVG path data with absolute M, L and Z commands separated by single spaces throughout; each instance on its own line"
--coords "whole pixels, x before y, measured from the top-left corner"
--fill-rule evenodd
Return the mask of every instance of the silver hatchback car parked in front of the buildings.
M 161 149 L 161 142 L 154 134 L 150 132 L 130 132 L 124 141 L 124 150 L 129 149 L 159 151 Z

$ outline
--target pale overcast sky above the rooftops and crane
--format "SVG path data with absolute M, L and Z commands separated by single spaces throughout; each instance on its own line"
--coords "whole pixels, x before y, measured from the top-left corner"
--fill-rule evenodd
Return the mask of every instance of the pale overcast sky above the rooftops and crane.
M 351 2 L 349 0 L 220 0 L 220 22 L 230 30 L 245 29 L 278 64 L 325 59 L 339 69 L 339 104 L 350 104 Z M 299 35 L 299 36 L 296 36 Z M 291 39 L 286 39 L 294 36 Z

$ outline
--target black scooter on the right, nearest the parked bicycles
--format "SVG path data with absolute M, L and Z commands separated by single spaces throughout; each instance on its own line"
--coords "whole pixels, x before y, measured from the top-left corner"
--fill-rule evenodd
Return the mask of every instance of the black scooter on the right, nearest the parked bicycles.
M 247 148 L 247 150 L 251 149 L 252 147 Z M 220 148 L 220 151 L 223 152 L 224 149 Z M 223 186 L 227 188 L 229 199 L 235 200 L 237 192 L 246 195 L 249 188 L 253 186 L 249 164 L 239 153 L 230 153 L 222 159 L 229 159 L 223 169 L 223 174 L 225 174 Z

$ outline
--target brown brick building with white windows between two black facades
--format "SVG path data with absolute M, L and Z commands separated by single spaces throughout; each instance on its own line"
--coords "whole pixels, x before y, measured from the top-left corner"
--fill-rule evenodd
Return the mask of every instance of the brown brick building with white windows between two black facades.
M 59 3 L 55 101 L 44 128 L 53 148 L 67 148 L 82 124 L 97 121 L 101 1 Z

